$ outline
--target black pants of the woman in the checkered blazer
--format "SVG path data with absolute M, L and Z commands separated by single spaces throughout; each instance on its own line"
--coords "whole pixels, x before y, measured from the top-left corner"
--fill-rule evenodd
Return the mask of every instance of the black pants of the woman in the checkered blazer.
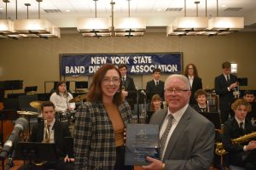
M 125 166 L 125 146 L 116 147 L 114 170 L 132 170 L 133 166 Z

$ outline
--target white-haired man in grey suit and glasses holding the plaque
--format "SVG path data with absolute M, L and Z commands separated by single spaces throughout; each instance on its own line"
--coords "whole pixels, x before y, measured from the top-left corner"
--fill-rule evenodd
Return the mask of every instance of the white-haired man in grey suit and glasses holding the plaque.
M 183 75 L 171 75 L 166 79 L 168 108 L 155 112 L 150 119 L 151 124 L 160 126 L 160 160 L 147 156 L 150 164 L 143 166 L 144 169 L 201 170 L 211 167 L 214 127 L 189 106 L 189 87 L 189 80 Z

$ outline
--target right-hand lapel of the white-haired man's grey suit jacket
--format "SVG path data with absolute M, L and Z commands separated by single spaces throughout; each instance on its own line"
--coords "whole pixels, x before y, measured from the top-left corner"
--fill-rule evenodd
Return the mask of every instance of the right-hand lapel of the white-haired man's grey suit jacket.
M 190 118 L 190 107 L 184 112 L 183 116 L 181 117 L 180 121 L 177 124 L 177 127 L 175 127 L 174 131 L 172 132 L 171 139 L 169 140 L 169 143 L 166 147 L 166 153 L 164 156 L 164 160 L 166 157 L 169 157 L 169 155 L 172 153 L 172 150 L 174 150 L 176 141 L 178 137 L 180 136 L 181 133 L 183 133 L 183 130 L 189 123 L 189 118 Z

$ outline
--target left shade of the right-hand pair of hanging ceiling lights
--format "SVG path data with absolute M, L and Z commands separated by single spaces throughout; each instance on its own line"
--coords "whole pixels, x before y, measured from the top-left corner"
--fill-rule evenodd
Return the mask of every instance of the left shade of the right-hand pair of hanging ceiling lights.
M 184 17 L 177 17 L 167 26 L 167 36 L 199 35 L 208 27 L 207 17 L 198 16 L 198 4 L 196 4 L 196 17 L 186 16 L 186 0 L 184 0 Z

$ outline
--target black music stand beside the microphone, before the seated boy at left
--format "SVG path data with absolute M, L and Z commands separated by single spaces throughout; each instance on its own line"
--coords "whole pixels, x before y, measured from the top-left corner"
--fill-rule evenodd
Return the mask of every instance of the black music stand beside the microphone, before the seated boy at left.
M 32 161 L 55 161 L 57 151 L 55 144 L 39 142 L 19 142 L 15 146 L 14 160 L 29 161 L 32 169 Z

